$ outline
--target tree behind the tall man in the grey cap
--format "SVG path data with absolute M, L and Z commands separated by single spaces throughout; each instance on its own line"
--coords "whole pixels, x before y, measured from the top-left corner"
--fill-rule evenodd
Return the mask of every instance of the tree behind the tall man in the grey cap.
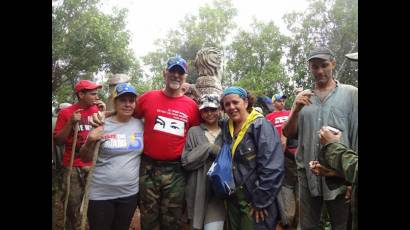
M 335 52 L 334 77 L 342 83 L 357 86 L 357 63 L 346 61 L 345 54 L 357 50 L 357 0 L 309 0 L 305 12 L 284 16 L 291 31 L 287 67 L 297 86 L 311 88 L 306 57 L 315 46 L 327 46 Z M 343 64 L 344 63 L 344 64 Z

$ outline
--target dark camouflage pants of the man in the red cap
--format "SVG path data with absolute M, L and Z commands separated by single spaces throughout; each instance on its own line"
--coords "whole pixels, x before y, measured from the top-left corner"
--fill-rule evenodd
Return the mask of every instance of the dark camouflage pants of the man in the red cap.
M 85 180 L 87 178 L 89 169 L 73 167 L 70 179 L 70 194 L 68 196 L 67 204 L 67 218 L 66 229 L 67 230 L 79 230 L 81 226 L 81 213 L 80 207 L 84 196 Z M 68 168 L 64 168 L 63 174 L 63 195 L 62 201 L 64 202 L 67 192 L 67 175 Z

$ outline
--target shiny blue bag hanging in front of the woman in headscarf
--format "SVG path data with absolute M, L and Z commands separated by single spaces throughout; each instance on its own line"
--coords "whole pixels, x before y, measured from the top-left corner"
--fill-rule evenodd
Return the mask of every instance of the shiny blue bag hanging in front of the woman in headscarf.
M 230 149 L 224 142 L 207 173 L 214 194 L 220 198 L 226 198 L 235 191 Z

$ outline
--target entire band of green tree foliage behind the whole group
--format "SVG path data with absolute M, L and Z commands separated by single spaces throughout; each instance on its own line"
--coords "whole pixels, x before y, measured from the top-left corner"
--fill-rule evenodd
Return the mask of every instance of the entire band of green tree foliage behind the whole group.
M 291 32 L 282 35 L 274 22 L 254 19 L 249 31 L 239 30 L 231 43 L 226 38 L 236 28 L 237 9 L 231 0 L 214 0 L 188 14 L 177 29 L 158 39 L 156 49 L 142 58 L 149 74 L 141 70 L 129 49 L 125 29 L 127 11 L 112 15 L 99 10 L 99 0 L 53 1 L 52 96 L 56 103 L 73 102 L 73 86 L 81 79 L 95 80 L 98 73 L 126 73 L 139 94 L 164 87 L 163 69 L 169 57 L 188 61 L 188 82 L 195 83 L 196 53 L 217 47 L 224 56 L 222 85 L 238 85 L 256 96 L 283 92 L 292 105 L 294 88 L 311 88 L 306 57 L 314 46 L 325 45 L 336 53 L 334 77 L 357 86 L 357 63 L 344 55 L 357 51 L 358 0 L 308 0 L 304 12 L 291 12 L 284 21 Z M 101 91 L 108 97 L 108 87 Z

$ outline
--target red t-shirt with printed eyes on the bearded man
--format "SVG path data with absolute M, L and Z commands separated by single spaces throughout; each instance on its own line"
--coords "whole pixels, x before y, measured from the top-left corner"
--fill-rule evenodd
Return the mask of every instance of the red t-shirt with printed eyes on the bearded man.
M 187 96 L 169 97 L 161 90 L 138 97 L 134 116 L 143 117 L 144 154 L 155 160 L 181 157 L 186 134 L 199 125 L 198 106 Z

